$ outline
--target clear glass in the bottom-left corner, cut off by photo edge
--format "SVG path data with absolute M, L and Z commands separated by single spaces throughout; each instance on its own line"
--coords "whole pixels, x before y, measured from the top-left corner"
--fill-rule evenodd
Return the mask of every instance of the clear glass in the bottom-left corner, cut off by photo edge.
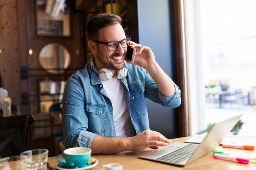
M 26 170 L 27 169 L 27 157 L 25 156 L 10 156 L 0 159 L 1 170 Z

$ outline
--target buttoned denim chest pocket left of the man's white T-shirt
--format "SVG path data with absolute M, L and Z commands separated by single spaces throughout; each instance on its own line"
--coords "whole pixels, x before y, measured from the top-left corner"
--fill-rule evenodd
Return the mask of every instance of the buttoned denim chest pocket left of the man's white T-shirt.
M 100 104 L 86 104 L 88 117 L 88 131 L 101 134 L 106 130 L 107 106 Z

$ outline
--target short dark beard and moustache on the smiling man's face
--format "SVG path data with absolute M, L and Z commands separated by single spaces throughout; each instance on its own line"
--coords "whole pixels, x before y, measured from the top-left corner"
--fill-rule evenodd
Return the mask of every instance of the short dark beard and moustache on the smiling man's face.
M 124 61 L 118 65 L 115 65 L 114 63 L 111 62 L 111 58 L 112 57 L 115 57 L 115 56 L 125 56 L 125 53 L 124 54 L 112 54 L 110 56 L 106 56 L 106 55 L 103 55 L 100 51 L 99 48 L 97 48 L 97 58 L 99 60 L 99 62 L 104 65 L 104 67 L 110 69 L 110 70 L 121 70 L 122 68 L 124 68 Z

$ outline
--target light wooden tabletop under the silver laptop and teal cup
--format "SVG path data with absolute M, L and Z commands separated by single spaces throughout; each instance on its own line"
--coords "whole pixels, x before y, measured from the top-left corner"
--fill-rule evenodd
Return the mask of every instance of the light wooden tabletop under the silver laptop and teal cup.
M 172 142 L 184 142 L 190 137 L 181 137 L 181 138 L 175 138 L 171 139 Z M 216 148 L 218 150 L 223 150 L 226 152 L 230 152 L 234 149 L 232 148 L 222 148 L 221 146 L 218 146 Z M 111 154 L 111 155 L 92 155 L 92 157 L 96 158 L 99 163 L 97 166 L 93 167 L 92 170 L 95 169 L 100 169 L 103 164 L 109 164 L 109 163 L 119 163 L 123 166 L 124 170 L 128 169 L 154 169 L 154 170 L 164 170 L 164 169 L 195 169 L 195 170 L 209 170 L 209 169 L 218 169 L 218 170 L 236 170 L 236 169 L 256 169 L 256 163 L 250 162 L 249 164 L 241 164 L 237 162 L 232 162 L 232 161 L 227 161 L 223 159 L 214 159 L 212 157 L 212 152 L 204 155 L 200 159 L 197 159 L 196 161 L 188 164 L 187 166 L 181 167 L 181 166 L 174 166 L 170 164 L 165 164 L 165 163 L 160 163 L 160 162 L 155 162 L 155 161 L 150 161 L 146 159 L 140 159 L 139 155 L 144 154 L 145 152 L 152 151 L 152 149 L 146 149 L 141 152 L 121 152 L 118 154 Z M 247 150 L 242 150 L 242 149 L 236 149 L 236 152 L 243 152 L 243 153 L 249 153 L 256 154 L 255 151 L 247 151 Z M 57 157 L 50 157 L 48 158 L 48 162 L 56 167 L 58 162 L 57 162 Z M 50 170 L 50 168 L 48 167 Z

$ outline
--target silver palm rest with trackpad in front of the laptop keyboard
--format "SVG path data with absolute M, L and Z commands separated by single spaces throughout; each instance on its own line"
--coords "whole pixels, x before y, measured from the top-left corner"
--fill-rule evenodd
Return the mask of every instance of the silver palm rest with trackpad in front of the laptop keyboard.
M 169 145 L 169 146 L 162 147 L 162 148 L 157 149 L 157 150 L 152 151 L 152 152 L 147 152 L 144 155 L 140 155 L 140 158 L 156 159 L 156 158 L 158 158 L 160 156 L 163 156 L 166 153 L 172 152 L 176 149 L 179 149 L 179 148 L 172 147 L 172 146 Z

